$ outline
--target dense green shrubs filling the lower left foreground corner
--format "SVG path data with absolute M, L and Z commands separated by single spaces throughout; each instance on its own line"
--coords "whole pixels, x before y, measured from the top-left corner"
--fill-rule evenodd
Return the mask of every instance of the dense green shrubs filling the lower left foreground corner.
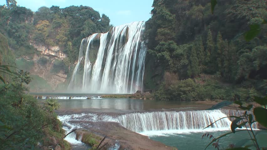
M 59 104 L 55 100 L 39 103 L 33 96 L 24 95 L 24 84 L 31 80 L 29 73 L 21 70 L 13 75 L 12 83 L 0 87 L 2 149 L 48 148 L 64 137 L 62 125 L 53 113 Z M 62 149 L 70 149 L 65 141 L 59 144 Z

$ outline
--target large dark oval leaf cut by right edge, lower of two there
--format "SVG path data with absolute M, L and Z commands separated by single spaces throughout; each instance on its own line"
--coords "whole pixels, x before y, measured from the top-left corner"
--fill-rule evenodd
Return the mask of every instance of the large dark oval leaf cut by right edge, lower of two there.
M 253 113 L 256 121 L 267 128 L 267 109 L 256 107 Z

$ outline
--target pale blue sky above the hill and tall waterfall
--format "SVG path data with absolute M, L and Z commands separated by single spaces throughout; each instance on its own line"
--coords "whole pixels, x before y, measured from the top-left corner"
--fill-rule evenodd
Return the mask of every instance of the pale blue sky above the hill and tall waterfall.
M 103 13 L 110 19 L 110 24 L 114 26 L 130 23 L 134 21 L 147 21 L 152 10 L 153 0 L 16 0 L 17 5 L 37 11 L 42 6 L 59 6 L 65 8 L 74 6 L 89 6 Z M 0 5 L 6 0 L 0 0 Z

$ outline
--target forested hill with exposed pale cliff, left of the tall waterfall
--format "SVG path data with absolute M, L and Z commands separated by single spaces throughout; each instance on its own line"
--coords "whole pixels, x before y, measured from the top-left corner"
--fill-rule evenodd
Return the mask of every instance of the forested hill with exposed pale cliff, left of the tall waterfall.
M 62 88 L 78 59 L 81 40 L 107 32 L 110 19 L 88 6 L 41 7 L 36 12 L 7 0 L 0 5 L 1 54 L 14 53 L 4 63 L 28 71 L 34 78 L 30 90 L 51 92 Z M 5 41 L 5 42 L 4 42 Z M 8 41 L 8 45 L 6 43 Z M 7 47 L 8 46 L 8 47 Z M 7 58 L 7 56 L 3 56 Z

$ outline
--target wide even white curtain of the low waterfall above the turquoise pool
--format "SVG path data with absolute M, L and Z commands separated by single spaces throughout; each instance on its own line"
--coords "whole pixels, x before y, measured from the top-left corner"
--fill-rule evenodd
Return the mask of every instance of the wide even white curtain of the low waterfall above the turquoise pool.
M 151 112 L 130 113 L 118 116 L 118 121 L 125 128 L 134 132 L 159 130 L 192 130 L 203 129 L 216 120 L 226 117 L 220 110 L 185 111 L 185 112 Z M 222 119 L 210 128 L 230 127 L 229 119 Z

